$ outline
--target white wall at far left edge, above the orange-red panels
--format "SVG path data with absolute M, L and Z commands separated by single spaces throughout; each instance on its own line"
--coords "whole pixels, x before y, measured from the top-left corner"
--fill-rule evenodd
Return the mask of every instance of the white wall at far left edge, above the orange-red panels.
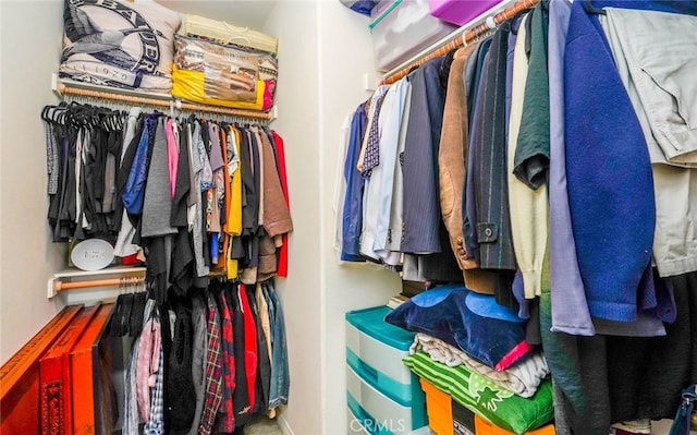
M 46 282 L 64 246 L 46 225 L 45 105 L 61 50 L 62 2 L 0 1 L 0 363 L 58 313 Z

